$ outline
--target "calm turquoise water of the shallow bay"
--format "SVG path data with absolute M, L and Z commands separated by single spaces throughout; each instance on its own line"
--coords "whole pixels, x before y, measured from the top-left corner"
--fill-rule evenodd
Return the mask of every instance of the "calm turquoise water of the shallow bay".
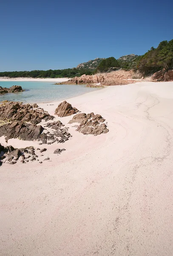
M 84 93 L 89 93 L 100 88 L 90 88 L 85 85 L 76 84 L 52 84 L 52 82 L 18 82 L 18 81 L 0 81 L 0 86 L 11 87 L 20 85 L 26 91 L 20 93 L 0 94 L 0 101 L 19 101 L 24 103 L 52 102 L 62 99 L 68 99 Z

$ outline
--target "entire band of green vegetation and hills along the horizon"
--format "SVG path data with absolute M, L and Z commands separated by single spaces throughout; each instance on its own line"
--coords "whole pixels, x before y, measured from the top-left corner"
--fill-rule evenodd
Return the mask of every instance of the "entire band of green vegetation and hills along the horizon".
M 61 78 L 92 75 L 92 73 L 110 72 L 122 68 L 124 70 L 139 70 L 143 76 L 148 76 L 159 70 L 168 71 L 173 69 L 173 39 L 171 41 L 162 41 L 155 49 L 151 49 L 142 56 L 130 54 L 120 57 L 116 60 L 110 58 L 96 58 L 88 62 L 79 64 L 77 67 L 64 70 L 32 70 L 32 71 L 13 71 L 0 72 L 0 77 L 33 77 L 33 78 Z

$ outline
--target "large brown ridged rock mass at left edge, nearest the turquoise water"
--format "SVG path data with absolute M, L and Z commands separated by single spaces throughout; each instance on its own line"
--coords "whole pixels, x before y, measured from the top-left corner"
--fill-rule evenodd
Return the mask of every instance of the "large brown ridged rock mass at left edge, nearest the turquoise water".
M 54 119 L 54 116 L 50 116 L 47 111 L 42 108 L 38 108 L 37 104 L 23 105 L 21 102 L 2 102 L 0 105 L 0 120 L 10 121 L 23 121 L 31 122 L 34 125 L 40 123 L 43 119 L 45 121 Z

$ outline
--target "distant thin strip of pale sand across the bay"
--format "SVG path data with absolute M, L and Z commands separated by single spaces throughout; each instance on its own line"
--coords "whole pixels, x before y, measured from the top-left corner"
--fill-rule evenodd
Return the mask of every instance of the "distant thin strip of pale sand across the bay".
M 64 82 L 68 81 L 69 78 L 23 78 L 23 77 L 17 77 L 17 78 L 8 78 L 8 77 L 0 77 L 0 81 L 20 81 L 20 82 Z

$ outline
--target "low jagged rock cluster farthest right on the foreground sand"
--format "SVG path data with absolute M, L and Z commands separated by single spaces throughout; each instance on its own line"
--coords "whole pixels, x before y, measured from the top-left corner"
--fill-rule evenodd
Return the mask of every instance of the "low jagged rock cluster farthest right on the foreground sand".
M 105 119 L 99 114 L 94 115 L 93 112 L 89 114 L 79 113 L 73 116 L 69 123 L 74 122 L 80 123 L 76 131 L 82 134 L 99 135 L 109 131 L 107 125 L 104 123 Z

